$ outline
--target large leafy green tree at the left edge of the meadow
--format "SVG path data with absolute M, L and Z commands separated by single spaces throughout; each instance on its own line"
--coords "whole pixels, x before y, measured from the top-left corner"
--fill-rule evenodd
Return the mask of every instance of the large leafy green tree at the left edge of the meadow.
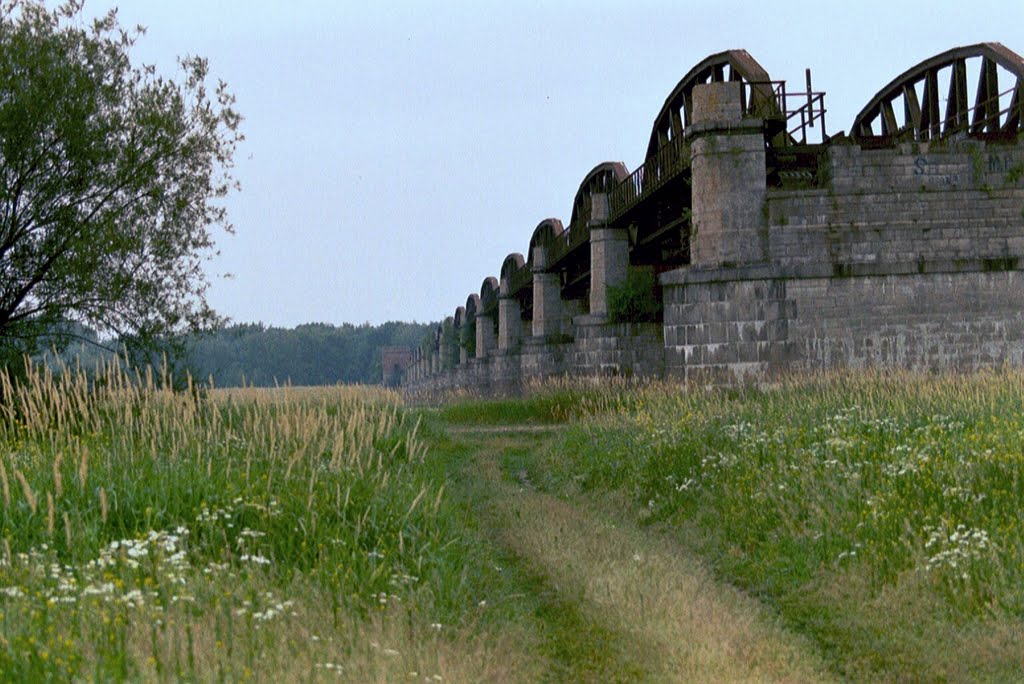
M 152 349 L 209 327 L 202 264 L 241 117 L 207 61 L 133 65 L 142 34 L 82 2 L 0 7 L 0 364 L 76 322 Z

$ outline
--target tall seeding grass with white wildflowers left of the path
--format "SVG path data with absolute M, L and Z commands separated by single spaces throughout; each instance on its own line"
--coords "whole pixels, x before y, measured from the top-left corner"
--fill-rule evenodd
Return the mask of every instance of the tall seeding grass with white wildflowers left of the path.
M 439 676 L 471 597 L 417 430 L 385 390 L 0 375 L 0 679 Z

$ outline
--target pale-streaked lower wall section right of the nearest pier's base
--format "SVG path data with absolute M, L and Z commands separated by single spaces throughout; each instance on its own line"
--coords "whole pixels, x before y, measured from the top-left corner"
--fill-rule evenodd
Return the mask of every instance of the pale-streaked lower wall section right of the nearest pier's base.
M 795 280 L 794 370 L 976 370 L 1024 362 L 1024 272 Z

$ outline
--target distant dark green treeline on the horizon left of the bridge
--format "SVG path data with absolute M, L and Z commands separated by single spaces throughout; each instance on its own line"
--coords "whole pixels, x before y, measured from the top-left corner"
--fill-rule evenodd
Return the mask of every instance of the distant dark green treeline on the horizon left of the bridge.
M 274 384 L 380 384 L 381 347 L 421 346 L 437 324 L 389 322 L 364 324 L 306 324 L 294 329 L 263 324 L 238 324 L 185 342 L 183 366 L 198 381 L 210 378 L 217 387 Z M 60 354 L 93 368 L 112 352 L 97 346 L 94 332 L 76 327 L 75 339 Z M 102 346 L 116 348 L 116 343 Z

